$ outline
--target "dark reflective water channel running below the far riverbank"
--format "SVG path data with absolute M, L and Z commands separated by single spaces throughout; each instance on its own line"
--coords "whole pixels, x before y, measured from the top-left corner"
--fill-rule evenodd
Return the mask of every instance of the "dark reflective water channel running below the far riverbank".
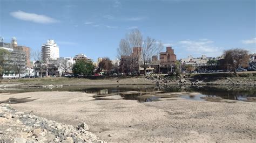
M 181 95 L 180 97 L 192 100 L 204 100 L 200 97 L 221 97 L 224 99 L 245 101 L 247 97 L 256 97 L 256 89 L 254 87 L 219 87 L 219 86 L 205 86 L 205 87 L 179 87 L 172 86 L 169 88 L 158 87 L 154 85 L 109 85 L 109 86 L 70 86 L 64 88 L 29 88 L 29 89 L 2 89 L 0 92 L 35 92 L 35 91 L 82 91 L 96 95 L 118 94 L 126 91 L 165 91 L 165 92 L 199 92 L 199 95 L 189 96 Z M 123 99 L 137 100 L 139 102 L 158 101 L 159 97 L 142 98 L 140 94 L 120 95 Z

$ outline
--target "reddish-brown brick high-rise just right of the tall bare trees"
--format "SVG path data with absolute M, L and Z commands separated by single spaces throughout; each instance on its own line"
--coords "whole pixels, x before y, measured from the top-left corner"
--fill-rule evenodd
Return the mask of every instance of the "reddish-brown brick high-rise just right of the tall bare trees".
M 160 66 L 170 66 L 175 65 L 176 54 L 174 54 L 174 49 L 172 47 L 166 47 L 166 52 L 160 52 Z

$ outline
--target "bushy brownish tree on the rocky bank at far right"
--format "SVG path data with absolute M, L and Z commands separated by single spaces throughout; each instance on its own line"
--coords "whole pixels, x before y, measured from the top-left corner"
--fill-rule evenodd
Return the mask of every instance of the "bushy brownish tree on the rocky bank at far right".
M 230 66 L 234 73 L 237 73 L 237 68 L 248 66 L 249 52 L 245 49 L 235 48 L 224 51 L 224 63 Z

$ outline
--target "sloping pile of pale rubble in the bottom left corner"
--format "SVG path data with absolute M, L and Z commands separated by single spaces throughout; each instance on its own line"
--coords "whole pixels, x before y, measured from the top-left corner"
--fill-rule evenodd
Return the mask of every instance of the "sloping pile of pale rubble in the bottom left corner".
M 0 142 L 104 142 L 88 130 L 0 106 Z

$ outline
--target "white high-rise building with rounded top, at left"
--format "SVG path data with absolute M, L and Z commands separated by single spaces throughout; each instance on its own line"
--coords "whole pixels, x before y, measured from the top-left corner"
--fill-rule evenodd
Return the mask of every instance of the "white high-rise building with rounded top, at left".
M 47 60 L 56 60 L 59 58 L 59 47 L 54 42 L 54 40 L 47 40 L 47 43 L 42 45 L 42 59 L 43 61 Z

